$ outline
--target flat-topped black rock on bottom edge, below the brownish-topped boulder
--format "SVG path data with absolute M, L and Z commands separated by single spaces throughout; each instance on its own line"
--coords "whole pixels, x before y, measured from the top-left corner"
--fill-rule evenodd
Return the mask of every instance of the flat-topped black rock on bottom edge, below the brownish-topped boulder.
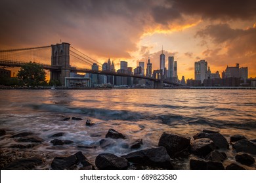
M 224 170 L 223 163 L 190 159 L 191 170 Z

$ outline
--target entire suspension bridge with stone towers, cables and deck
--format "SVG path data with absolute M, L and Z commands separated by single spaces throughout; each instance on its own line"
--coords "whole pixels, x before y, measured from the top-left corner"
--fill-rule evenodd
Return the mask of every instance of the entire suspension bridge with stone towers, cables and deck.
M 59 80 L 62 86 L 66 86 L 66 79 L 70 78 L 70 73 L 91 73 L 107 76 L 124 76 L 141 78 L 154 82 L 154 88 L 162 88 L 163 83 L 179 86 L 175 82 L 165 80 L 159 72 L 156 76 L 133 75 L 131 73 L 118 73 L 116 71 L 104 71 L 95 59 L 83 54 L 70 43 L 62 42 L 50 46 L 37 46 L 33 48 L 18 48 L 12 50 L 0 50 L 0 67 L 21 67 L 33 61 L 42 65 L 43 69 L 50 71 L 51 80 Z M 75 63 L 83 67 L 75 67 Z M 96 63 L 99 69 L 91 69 L 91 65 Z

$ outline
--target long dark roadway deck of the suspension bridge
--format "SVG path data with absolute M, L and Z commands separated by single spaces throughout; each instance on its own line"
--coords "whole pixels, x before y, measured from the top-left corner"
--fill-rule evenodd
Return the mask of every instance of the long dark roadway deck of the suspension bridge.
M 11 61 L 11 60 L 3 60 L 0 59 L 0 66 L 3 67 L 21 67 L 22 65 L 25 65 L 28 62 L 25 61 Z M 39 65 L 43 66 L 43 69 L 47 69 L 47 70 L 60 70 L 62 69 L 61 66 L 53 66 L 53 65 L 48 65 L 48 64 L 43 64 L 43 63 L 37 63 Z M 169 80 L 160 80 L 160 79 L 156 79 L 156 78 L 152 78 L 152 77 L 148 77 L 148 76 L 141 76 L 141 75 L 131 75 L 128 73 L 116 73 L 116 72 L 112 72 L 112 71 L 94 71 L 91 69 L 81 69 L 81 68 L 77 68 L 77 67 L 70 67 L 67 68 L 70 69 L 71 73 L 91 73 L 91 74 L 98 74 L 98 75 L 111 75 L 111 76 L 124 76 L 124 77 L 133 77 L 133 78 L 141 78 L 141 79 L 146 79 L 146 80 L 152 80 L 154 82 L 163 82 L 165 84 L 172 84 L 175 86 L 181 86 L 181 84 L 178 83 L 174 83 L 174 82 L 170 82 Z

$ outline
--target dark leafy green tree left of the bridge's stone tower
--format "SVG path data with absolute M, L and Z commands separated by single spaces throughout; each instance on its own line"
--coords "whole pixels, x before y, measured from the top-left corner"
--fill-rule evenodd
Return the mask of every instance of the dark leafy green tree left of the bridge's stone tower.
M 21 78 L 27 86 L 45 86 L 47 82 L 46 72 L 43 69 L 43 66 L 30 61 L 22 65 L 17 74 L 18 78 Z

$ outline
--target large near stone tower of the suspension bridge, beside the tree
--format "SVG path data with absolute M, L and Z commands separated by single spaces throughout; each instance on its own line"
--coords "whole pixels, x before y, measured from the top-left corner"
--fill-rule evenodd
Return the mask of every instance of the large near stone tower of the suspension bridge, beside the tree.
M 51 65 L 60 67 L 57 71 L 51 71 L 51 80 L 59 80 L 60 85 L 65 85 L 65 77 L 70 76 L 70 43 L 52 44 Z

